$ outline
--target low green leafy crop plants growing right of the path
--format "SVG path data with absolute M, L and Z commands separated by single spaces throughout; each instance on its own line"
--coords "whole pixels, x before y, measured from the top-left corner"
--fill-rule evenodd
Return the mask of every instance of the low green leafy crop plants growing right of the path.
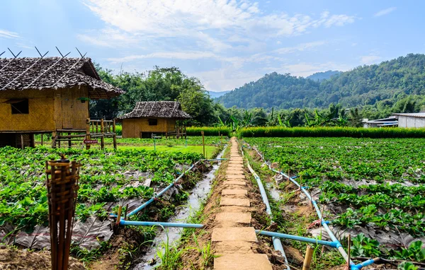
M 319 203 L 346 209 L 333 224 L 425 235 L 424 139 L 244 140 L 257 146 L 266 160 L 278 163 L 280 170 L 290 170 L 302 176 L 306 186 L 320 189 Z M 353 187 L 346 181 L 373 183 Z

